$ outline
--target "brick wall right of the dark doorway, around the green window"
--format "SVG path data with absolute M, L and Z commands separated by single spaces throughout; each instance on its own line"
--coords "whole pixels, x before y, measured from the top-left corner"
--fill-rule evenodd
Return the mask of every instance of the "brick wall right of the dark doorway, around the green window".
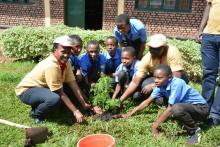
M 113 6 L 110 5 L 112 3 Z M 115 0 L 106 0 L 105 4 L 103 29 L 112 29 L 114 27 L 114 18 L 117 15 L 117 2 Z M 192 38 L 194 36 L 201 22 L 204 7 L 204 0 L 192 0 L 191 13 L 147 12 L 135 10 L 134 0 L 125 1 L 125 13 L 128 13 L 131 18 L 140 19 L 146 24 L 148 34 L 163 33 L 169 37 L 179 38 Z M 116 13 L 109 13 L 108 11 L 111 9 L 116 10 Z

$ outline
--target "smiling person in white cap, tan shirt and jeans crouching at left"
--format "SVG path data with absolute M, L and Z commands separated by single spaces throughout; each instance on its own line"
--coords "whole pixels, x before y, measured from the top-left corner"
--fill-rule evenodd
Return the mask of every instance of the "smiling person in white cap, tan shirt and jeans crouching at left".
M 84 120 L 81 112 L 63 91 L 63 82 L 67 83 L 84 109 L 90 107 L 75 81 L 68 61 L 72 49 L 71 38 L 61 36 L 54 40 L 52 53 L 39 62 L 17 85 L 15 92 L 22 102 L 32 107 L 30 116 L 36 123 L 42 122 L 44 115 L 60 101 L 73 112 L 77 122 Z

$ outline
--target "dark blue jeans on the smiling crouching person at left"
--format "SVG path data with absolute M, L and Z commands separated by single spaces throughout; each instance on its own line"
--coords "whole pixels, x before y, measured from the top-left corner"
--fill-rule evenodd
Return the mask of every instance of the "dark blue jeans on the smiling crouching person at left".
M 19 98 L 32 107 L 32 115 L 41 117 L 54 108 L 60 101 L 60 96 L 48 88 L 33 87 L 24 91 Z

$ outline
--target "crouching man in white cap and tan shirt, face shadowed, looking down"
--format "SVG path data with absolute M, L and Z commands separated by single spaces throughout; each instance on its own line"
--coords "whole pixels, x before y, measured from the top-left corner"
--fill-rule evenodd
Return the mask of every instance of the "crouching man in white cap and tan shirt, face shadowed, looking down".
M 150 42 L 147 45 L 149 46 L 149 52 L 142 58 L 135 77 L 120 98 L 121 102 L 131 95 L 142 81 L 140 85 L 141 93 L 137 93 L 136 97 L 140 97 L 143 94 L 149 95 L 152 92 L 154 88 L 153 71 L 158 64 L 169 65 L 172 69 L 173 76 L 180 77 L 188 83 L 188 79 L 183 71 L 181 54 L 176 47 L 167 44 L 164 35 L 155 34 L 151 36 Z M 163 103 L 163 99 L 158 99 L 158 102 Z

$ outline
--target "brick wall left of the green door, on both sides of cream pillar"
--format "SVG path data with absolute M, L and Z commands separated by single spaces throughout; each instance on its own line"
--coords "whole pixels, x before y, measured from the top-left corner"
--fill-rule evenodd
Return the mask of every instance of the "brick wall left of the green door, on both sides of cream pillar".
M 63 0 L 50 0 L 51 24 L 64 22 Z M 0 3 L 0 26 L 44 26 L 44 0 L 31 4 Z

